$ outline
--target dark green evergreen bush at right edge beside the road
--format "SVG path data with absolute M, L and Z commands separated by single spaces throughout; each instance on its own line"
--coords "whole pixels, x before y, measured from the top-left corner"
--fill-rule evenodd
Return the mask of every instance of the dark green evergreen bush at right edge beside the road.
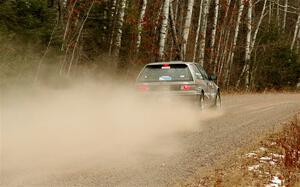
M 256 89 L 295 87 L 300 77 L 300 60 L 295 51 L 290 50 L 289 33 L 277 25 L 261 28 L 253 74 Z

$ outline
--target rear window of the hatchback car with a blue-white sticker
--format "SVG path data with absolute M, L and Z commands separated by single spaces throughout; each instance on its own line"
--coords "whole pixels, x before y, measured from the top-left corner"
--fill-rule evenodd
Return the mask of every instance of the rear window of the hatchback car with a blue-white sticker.
M 140 74 L 139 82 L 192 81 L 192 74 L 186 64 L 148 65 Z

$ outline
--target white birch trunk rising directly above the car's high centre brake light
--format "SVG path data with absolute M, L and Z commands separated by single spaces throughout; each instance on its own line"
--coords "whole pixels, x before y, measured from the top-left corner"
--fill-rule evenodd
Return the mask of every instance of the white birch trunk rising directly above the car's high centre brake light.
M 162 12 L 163 20 L 161 23 L 160 35 L 159 35 L 159 51 L 158 51 L 159 60 L 163 60 L 164 57 L 165 43 L 166 43 L 167 32 L 168 32 L 169 7 L 170 7 L 170 0 L 164 0 L 163 12 Z

